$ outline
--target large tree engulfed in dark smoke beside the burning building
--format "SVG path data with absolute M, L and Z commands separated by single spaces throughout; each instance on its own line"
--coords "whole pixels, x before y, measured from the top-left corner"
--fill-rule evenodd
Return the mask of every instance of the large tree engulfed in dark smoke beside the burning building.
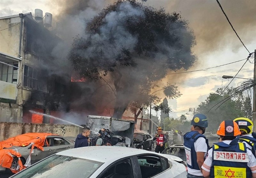
M 121 118 L 128 106 L 148 105 L 150 93 L 168 71 L 189 69 L 197 60 L 191 51 L 195 44 L 180 14 L 119 0 L 86 25 L 69 57 L 81 77 L 105 82 L 112 92 L 113 117 Z

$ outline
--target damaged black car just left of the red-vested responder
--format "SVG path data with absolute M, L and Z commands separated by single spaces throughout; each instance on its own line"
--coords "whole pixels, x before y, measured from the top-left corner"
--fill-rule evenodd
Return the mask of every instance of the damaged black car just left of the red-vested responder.
M 133 145 L 138 149 L 152 150 L 154 142 L 150 135 L 136 132 L 133 135 Z

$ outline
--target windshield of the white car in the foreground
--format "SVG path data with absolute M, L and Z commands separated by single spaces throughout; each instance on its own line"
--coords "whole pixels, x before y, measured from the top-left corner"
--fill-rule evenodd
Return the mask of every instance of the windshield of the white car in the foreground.
M 88 159 L 53 155 L 38 162 L 13 178 L 70 178 L 90 177 L 103 163 Z

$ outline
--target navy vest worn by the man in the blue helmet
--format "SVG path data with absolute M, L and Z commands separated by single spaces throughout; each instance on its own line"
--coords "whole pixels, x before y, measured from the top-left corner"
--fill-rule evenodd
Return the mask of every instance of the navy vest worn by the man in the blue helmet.
M 197 131 L 191 131 L 186 133 L 183 138 L 184 138 L 184 148 L 185 148 L 185 152 L 186 152 L 186 158 L 187 158 L 187 165 L 189 168 L 191 169 L 196 169 L 196 170 L 200 170 L 199 166 L 197 164 L 196 161 L 196 151 L 195 151 L 195 142 L 199 137 L 203 137 L 205 139 L 205 142 L 207 144 L 207 147 L 209 149 L 209 144 L 208 144 L 208 140 L 206 139 L 206 137 L 202 134 L 200 134 Z M 206 152 L 208 152 L 208 150 L 206 150 Z M 205 159 L 205 158 L 204 158 Z

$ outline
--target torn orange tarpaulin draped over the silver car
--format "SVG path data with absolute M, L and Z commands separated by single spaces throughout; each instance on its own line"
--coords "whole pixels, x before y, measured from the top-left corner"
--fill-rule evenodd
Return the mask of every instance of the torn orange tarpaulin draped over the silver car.
M 54 135 L 51 133 L 27 133 L 27 134 L 22 134 L 22 135 L 17 135 L 12 138 L 8 138 L 7 140 L 1 141 L 0 142 L 0 166 L 5 167 L 5 168 L 11 168 L 12 161 L 13 161 L 13 156 L 16 156 L 19 158 L 19 170 L 13 170 L 11 171 L 13 173 L 17 173 L 20 170 L 24 169 L 25 166 L 22 165 L 22 162 L 20 160 L 20 153 L 12 150 L 12 149 L 4 149 L 4 148 L 11 148 L 12 146 L 21 146 L 25 147 L 28 146 L 30 143 L 34 143 L 31 147 L 31 152 L 32 153 L 34 147 L 37 147 L 38 149 L 44 151 L 44 142 L 45 139 L 48 135 Z

